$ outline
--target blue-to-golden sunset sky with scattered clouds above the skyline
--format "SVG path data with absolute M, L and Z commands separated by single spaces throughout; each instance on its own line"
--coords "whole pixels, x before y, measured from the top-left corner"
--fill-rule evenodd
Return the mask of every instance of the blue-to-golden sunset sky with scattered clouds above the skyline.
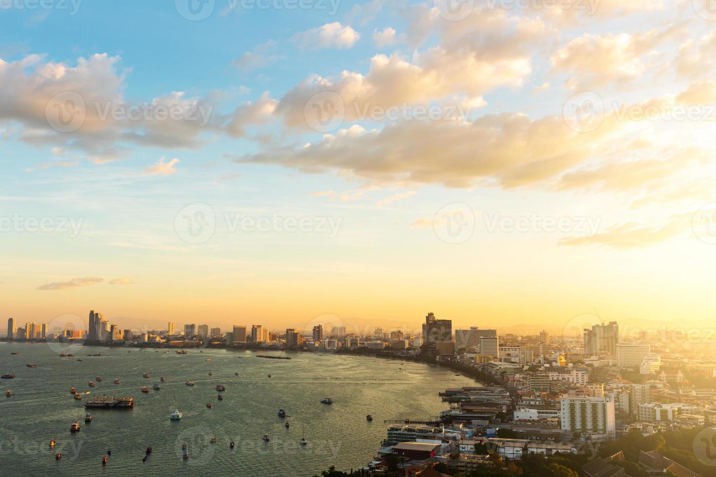
M 0 0 L 0 308 L 706 326 L 711 7 Z

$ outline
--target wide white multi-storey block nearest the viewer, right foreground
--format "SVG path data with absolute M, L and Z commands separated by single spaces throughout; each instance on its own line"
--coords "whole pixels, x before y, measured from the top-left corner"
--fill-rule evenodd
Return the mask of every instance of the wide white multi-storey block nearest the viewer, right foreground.
M 562 395 L 559 413 L 562 431 L 596 438 L 616 436 L 614 401 L 609 396 Z

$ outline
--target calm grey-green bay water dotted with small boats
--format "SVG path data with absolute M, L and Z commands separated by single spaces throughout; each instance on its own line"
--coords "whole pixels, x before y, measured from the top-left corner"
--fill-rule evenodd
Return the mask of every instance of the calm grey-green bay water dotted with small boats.
M 330 465 L 349 470 L 375 456 L 386 437 L 384 420 L 438 415 L 446 408 L 440 390 L 477 385 L 443 368 L 333 354 L 292 353 L 291 360 L 267 360 L 251 351 L 211 349 L 188 355 L 101 347 L 72 352 L 75 358 L 59 358 L 50 345 L 0 343 L 0 374 L 17 376 L 0 380 L 3 394 L 6 389 L 13 393 L 0 395 L 0 474 L 273 477 L 313 476 Z M 151 378 L 142 378 L 143 373 Z M 102 382 L 90 388 L 87 383 L 97 375 Z M 152 390 L 160 376 L 166 382 Z M 115 378 L 119 385 L 112 383 Z M 196 385 L 185 385 L 187 380 Z M 217 400 L 219 383 L 226 385 L 223 400 Z M 143 385 L 150 393 L 140 392 Z M 72 386 L 82 393 L 132 396 L 135 406 L 92 409 L 94 420 L 85 424 L 84 401 L 72 398 Z M 334 404 L 321 404 L 324 396 Z M 279 408 L 289 417 L 279 418 Z M 181 421 L 169 420 L 175 409 L 183 413 Z M 367 422 L 367 414 L 374 421 Z M 69 432 L 72 421 L 79 421 L 79 433 Z M 302 429 L 308 446 L 299 445 Z M 264 433 L 269 443 L 262 441 Z M 216 443 L 209 442 L 213 436 Z M 53 437 L 54 450 L 48 446 Z M 182 443 L 189 446 L 187 460 L 181 458 Z M 153 453 L 142 462 L 150 445 Z M 112 455 L 103 467 L 107 449 Z M 60 461 L 54 458 L 57 452 Z

